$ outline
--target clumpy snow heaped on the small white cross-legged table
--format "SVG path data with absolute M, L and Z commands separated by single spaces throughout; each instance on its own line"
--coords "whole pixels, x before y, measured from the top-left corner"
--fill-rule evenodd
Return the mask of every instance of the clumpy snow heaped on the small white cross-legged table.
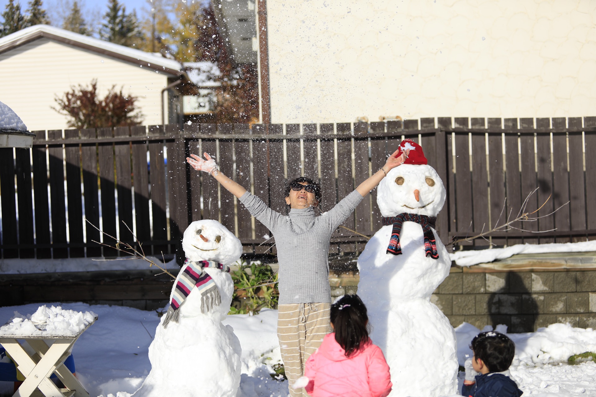
M 63 310 L 62 307 L 40 306 L 26 316 L 14 312 L 14 317 L 0 327 L 0 335 L 74 336 L 91 324 L 97 314 L 92 311 Z

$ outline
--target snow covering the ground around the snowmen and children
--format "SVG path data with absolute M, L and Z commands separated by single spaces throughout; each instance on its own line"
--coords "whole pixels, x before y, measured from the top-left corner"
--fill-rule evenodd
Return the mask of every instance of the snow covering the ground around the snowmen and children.
M 49 307 L 51 304 L 46 305 Z M 39 306 L 0 307 L 0 323 L 13 318 L 15 311 L 35 313 Z M 92 311 L 98 315 L 98 320 L 80 336 L 73 349 L 77 377 L 91 396 L 107 397 L 112 394 L 128 397 L 134 393 L 151 369 L 147 354 L 159 324 L 157 312 L 82 303 L 61 304 L 61 307 L 63 310 Z M 269 375 L 270 365 L 281 362 L 276 323 L 276 310 L 262 310 L 253 316 L 229 315 L 226 319 L 225 324 L 234 328 L 243 348 L 238 397 L 287 396 L 287 382 L 280 382 Z M 505 327 L 499 326 L 497 330 L 504 332 Z M 463 323 L 455 331 L 458 361 L 463 364 L 465 355 L 471 354 L 468 348 L 471 338 L 480 330 Z M 524 395 L 596 396 L 596 363 L 566 364 L 570 355 L 596 351 L 595 330 L 552 324 L 538 332 L 508 335 L 516 342 L 511 374 L 520 383 Z M 412 360 L 423 360 L 423 357 Z M 460 388 L 461 382 L 462 373 Z M 10 395 L 8 392 L 11 390 L 12 383 L 0 382 L 0 395 Z

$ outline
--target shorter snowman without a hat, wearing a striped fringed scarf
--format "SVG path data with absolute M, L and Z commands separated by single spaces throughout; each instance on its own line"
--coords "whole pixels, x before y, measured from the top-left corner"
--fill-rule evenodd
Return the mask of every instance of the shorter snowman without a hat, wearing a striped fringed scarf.
M 187 260 L 149 346 L 151 372 L 134 395 L 235 397 L 240 342 L 222 320 L 234 292 L 227 265 L 240 258 L 242 245 L 222 224 L 201 220 L 185 230 L 182 248 Z

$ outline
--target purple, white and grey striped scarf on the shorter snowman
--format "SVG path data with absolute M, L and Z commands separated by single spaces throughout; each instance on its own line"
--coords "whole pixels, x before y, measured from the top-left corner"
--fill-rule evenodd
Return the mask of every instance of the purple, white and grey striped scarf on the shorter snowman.
M 213 261 L 191 261 L 188 258 L 184 261 L 188 266 L 178 275 L 176 288 L 172 295 L 170 307 L 167 308 L 166 318 L 163 320 L 163 327 L 166 328 L 170 321 L 178 323 L 178 308 L 191 293 L 193 287 L 201 294 L 201 313 L 206 313 L 221 303 L 218 286 L 212 277 L 203 269 L 204 267 L 216 267 L 221 271 L 229 273 L 229 266 Z

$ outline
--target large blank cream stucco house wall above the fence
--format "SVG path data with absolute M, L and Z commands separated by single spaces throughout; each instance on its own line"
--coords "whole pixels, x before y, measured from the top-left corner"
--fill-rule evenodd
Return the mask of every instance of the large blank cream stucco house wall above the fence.
M 272 121 L 596 115 L 596 2 L 268 1 Z

